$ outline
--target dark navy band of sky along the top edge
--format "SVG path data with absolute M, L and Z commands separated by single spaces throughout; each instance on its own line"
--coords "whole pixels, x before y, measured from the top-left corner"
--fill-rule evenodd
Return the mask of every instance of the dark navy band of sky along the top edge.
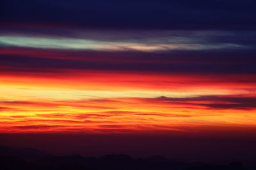
M 1 1 L 1 20 L 98 28 L 255 29 L 256 2 L 216 1 Z

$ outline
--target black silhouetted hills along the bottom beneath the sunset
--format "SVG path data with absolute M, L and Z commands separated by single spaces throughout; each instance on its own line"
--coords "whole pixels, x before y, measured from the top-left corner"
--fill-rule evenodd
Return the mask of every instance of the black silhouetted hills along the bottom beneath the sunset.
M 161 156 L 147 159 L 132 159 L 129 155 L 105 155 L 100 158 L 81 155 L 54 156 L 32 148 L 0 146 L 0 169 L 184 169 L 184 170 L 245 170 L 240 162 L 224 165 L 184 163 L 168 160 Z

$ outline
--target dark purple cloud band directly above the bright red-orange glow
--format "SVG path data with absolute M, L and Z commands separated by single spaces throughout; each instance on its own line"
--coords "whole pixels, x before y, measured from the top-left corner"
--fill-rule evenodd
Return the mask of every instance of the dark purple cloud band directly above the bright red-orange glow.
M 217 63 L 172 63 L 163 62 L 112 62 L 106 60 L 58 60 L 36 59 L 13 55 L 1 55 L 2 72 L 21 73 L 65 73 L 72 70 L 86 71 L 148 71 L 158 73 L 211 73 L 211 74 L 256 74 L 256 69 L 251 64 L 217 64 Z M 170 59 L 172 60 L 172 59 Z M 20 62 L 22 61 L 22 62 Z M 237 60 L 238 62 L 239 60 Z M 200 62 L 200 60 L 198 60 Z M 203 61 L 204 62 L 204 61 Z M 248 60 L 250 62 L 250 60 Z M 232 62 L 231 62 L 232 63 Z

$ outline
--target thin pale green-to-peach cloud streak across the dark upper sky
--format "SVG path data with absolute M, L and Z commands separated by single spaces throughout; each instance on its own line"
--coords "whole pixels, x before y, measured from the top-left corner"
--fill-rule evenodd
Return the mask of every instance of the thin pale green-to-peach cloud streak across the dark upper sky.
M 202 38 L 202 37 L 198 37 Z M 172 40 L 173 39 L 173 40 Z M 176 39 L 176 40 L 175 40 Z M 46 48 L 46 49 L 67 49 L 67 50 L 106 50 L 106 51 L 168 51 L 168 50 L 211 50 L 221 48 L 243 48 L 236 43 L 204 43 L 196 42 L 204 39 L 195 39 L 184 37 L 185 42 L 180 38 L 166 37 L 166 39 L 120 39 L 119 41 L 99 41 L 98 39 L 81 39 L 81 38 L 47 38 L 31 36 L 0 36 L 2 46 L 20 46 L 27 48 Z M 187 42 L 186 39 L 189 39 Z M 164 40 L 164 41 L 163 41 Z M 166 41 L 167 40 L 167 41 Z M 193 43 L 191 43 L 193 42 Z

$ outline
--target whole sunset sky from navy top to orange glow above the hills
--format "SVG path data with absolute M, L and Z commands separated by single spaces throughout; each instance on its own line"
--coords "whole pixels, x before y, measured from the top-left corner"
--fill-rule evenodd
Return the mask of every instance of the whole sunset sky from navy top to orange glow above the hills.
M 107 137 L 144 143 L 161 136 L 166 147 L 175 138 L 178 148 L 191 148 L 187 138 L 198 145 L 207 138 L 225 148 L 230 143 L 221 139 L 228 136 L 229 142 L 250 146 L 238 147 L 250 155 L 256 150 L 255 5 L 1 1 L 2 144 L 28 146 L 15 135 L 77 135 L 127 152 Z M 48 148 L 42 141 L 31 143 L 53 150 L 58 142 Z M 107 152 L 97 147 L 97 153 Z M 165 154 L 164 147 L 159 150 Z M 138 153 L 158 152 L 155 147 Z

